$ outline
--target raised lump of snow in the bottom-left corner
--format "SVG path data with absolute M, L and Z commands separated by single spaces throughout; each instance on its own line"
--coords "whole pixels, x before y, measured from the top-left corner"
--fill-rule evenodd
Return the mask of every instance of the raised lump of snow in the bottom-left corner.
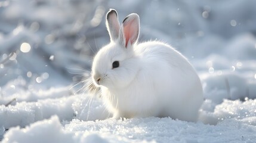
M 31 126 L 20 129 L 13 128 L 8 132 L 4 142 L 73 142 L 72 135 L 62 130 L 58 117 L 42 120 Z

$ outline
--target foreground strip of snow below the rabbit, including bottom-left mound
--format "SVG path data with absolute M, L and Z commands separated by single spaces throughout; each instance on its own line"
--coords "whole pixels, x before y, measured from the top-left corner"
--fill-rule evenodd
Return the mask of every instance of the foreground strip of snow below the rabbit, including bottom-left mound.
M 255 115 L 254 115 L 255 116 Z M 255 125 L 226 119 L 216 126 L 170 118 L 73 119 L 61 126 L 57 116 L 5 134 L 7 142 L 254 142 Z

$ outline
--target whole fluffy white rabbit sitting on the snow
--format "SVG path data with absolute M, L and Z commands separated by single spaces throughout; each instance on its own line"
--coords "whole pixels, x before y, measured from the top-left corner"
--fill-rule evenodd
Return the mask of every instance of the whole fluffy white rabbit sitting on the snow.
M 171 117 L 195 122 L 203 102 L 201 81 L 189 61 L 171 46 L 138 43 L 140 18 L 106 15 L 110 43 L 92 63 L 92 80 L 113 118 Z

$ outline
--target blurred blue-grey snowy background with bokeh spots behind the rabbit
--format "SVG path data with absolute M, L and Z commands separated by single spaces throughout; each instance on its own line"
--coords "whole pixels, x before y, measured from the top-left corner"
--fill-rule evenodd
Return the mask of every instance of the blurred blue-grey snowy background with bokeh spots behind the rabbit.
M 171 44 L 201 79 L 233 72 L 255 82 L 255 5 L 254 0 L 0 0 L 0 91 L 10 81 L 32 90 L 81 80 L 95 52 L 109 42 L 109 8 L 118 11 L 119 21 L 140 15 L 139 41 Z

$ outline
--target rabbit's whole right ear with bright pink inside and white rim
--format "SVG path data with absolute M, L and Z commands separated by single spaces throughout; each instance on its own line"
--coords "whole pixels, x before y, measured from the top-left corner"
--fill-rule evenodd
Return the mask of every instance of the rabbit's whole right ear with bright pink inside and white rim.
M 138 40 L 138 35 L 140 33 L 140 17 L 138 14 L 129 14 L 123 21 L 121 33 L 119 33 L 119 36 L 123 36 L 123 38 L 120 38 L 121 43 L 124 43 L 125 48 L 127 48 L 128 44 L 131 45 L 136 43 Z

